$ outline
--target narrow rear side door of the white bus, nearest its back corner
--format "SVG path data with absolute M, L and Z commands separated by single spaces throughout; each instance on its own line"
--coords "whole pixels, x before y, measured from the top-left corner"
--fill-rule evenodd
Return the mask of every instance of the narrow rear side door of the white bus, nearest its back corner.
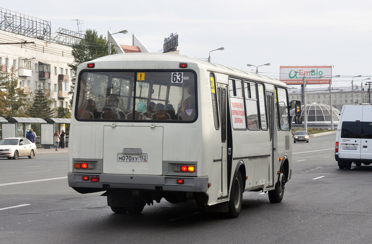
M 218 195 L 227 197 L 227 85 L 217 83 L 217 101 L 221 125 L 221 181 Z

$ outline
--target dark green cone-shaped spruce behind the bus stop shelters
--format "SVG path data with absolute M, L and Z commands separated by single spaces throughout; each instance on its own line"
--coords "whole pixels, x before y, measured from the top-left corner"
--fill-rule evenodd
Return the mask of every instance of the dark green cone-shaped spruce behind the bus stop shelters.
M 49 94 L 45 88 L 41 87 L 39 82 L 39 89 L 32 94 L 31 106 L 28 109 L 28 115 L 33 118 L 51 118 L 55 117 L 55 111 L 51 108 L 54 99 L 50 99 Z

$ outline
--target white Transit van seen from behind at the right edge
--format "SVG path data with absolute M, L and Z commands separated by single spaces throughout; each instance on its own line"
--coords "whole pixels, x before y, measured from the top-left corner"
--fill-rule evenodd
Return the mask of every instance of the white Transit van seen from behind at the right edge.
M 334 157 L 340 169 L 372 163 L 372 105 L 343 106 Z

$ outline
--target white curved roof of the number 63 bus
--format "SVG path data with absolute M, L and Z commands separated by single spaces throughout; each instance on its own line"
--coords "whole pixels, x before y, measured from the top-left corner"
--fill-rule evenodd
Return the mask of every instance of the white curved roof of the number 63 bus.
M 244 71 L 243 69 L 238 69 L 238 68 L 232 68 L 227 65 L 220 65 L 220 64 L 214 64 L 214 63 L 209 63 L 207 61 L 197 59 L 195 57 L 191 56 L 184 56 L 184 55 L 178 55 L 178 54 L 172 54 L 172 53 L 119 53 L 119 54 L 114 54 L 114 55 L 108 55 L 108 56 L 103 56 L 97 59 L 94 59 L 89 62 L 85 62 L 79 65 L 79 69 L 84 69 L 87 67 L 86 65 L 88 63 L 95 63 L 99 64 L 100 62 L 118 62 L 118 67 L 115 67 L 116 65 L 110 65 L 111 69 L 123 67 L 123 65 L 120 65 L 119 62 L 154 62 L 154 61 L 168 61 L 168 62 L 177 62 L 182 63 L 185 62 L 187 64 L 195 64 L 198 66 L 199 69 L 205 69 L 208 71 L 213 71 L 217 73 L 224 73 L 228 74 L 234 77 L 242 77 L 246 79 L 251 79 L 254 81 L 264 81 L 273 85 L 280 85 L 282 87 L 286 87 L 287 85 L 284 82 L 281 82 L 277 79 L 272 79 L 270 77 L 260 75 L 260 74 L 255 74 L 252 72 Z M 98 65 L 99 66 L 99 65 Z M 189 66 L 188 66 L 189 67 Z M 99 67 L 96 66 L 97 69 Z M 157 65 L 157 68 L 161 69 L 167 69 L 169 67 L 163 67 L 161 65 Z

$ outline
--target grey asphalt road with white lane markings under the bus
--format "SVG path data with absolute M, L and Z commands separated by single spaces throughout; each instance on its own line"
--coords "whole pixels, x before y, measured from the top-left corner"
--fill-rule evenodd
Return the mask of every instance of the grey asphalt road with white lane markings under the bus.
M 236 219 L 192 202 L 114 214 L 100 193 L 68 187 L 67 154 L 0 159 L 0 243 L 372 243 L 372 166 L 339 169 L 334 143 L 330 134 L 292 144 L 283 201 L 246 192 Z

